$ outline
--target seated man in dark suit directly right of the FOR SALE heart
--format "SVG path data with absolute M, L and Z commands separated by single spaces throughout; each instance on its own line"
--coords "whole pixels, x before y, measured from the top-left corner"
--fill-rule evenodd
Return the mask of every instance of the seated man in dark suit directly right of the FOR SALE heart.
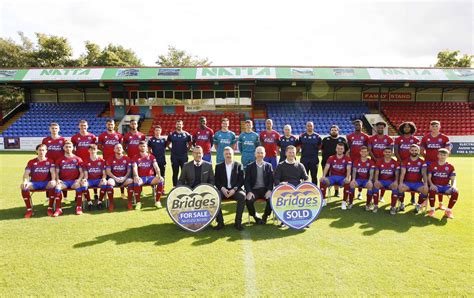
M 244 168 L 241 163 L 234 161 L 234 150 L 231 147 L 224 148 L 224 162 L 216 165 L 216 187 L 221 192 L 222 199 L 237 201 L 234 227 L 242 231 L 242 213 L 245 208 Z M 216 216 L 216 230 L 224 227 L 224 217 L 219 209 Z

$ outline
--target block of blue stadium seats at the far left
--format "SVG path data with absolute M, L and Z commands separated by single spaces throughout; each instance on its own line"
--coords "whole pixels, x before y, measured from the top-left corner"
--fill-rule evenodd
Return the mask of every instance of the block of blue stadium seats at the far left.
M 59 123 L 60 134 L 71 137 L 76 134 L 78 123 L 85 119 L 89 131 L 99 135 L 105 130 L 107 118 L 100 117 L 104 103 L 31 103 L 29 110 L 3 132 L 10 137 L 44 137 L 50 134 L 49 124 Z

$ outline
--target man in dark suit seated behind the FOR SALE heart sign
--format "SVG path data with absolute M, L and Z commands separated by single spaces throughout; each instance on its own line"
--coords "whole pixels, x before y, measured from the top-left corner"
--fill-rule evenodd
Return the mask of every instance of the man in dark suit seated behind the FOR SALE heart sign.
M 202 155 L 202 147 L 194 147 L 194 160 L 184 164 L 178 179 L 178 186 L 187 185 L 191 188 L 195 188 L 201 183 L 214 185 L 214 171 L 212 170 L 212 165 L 202 160 Z

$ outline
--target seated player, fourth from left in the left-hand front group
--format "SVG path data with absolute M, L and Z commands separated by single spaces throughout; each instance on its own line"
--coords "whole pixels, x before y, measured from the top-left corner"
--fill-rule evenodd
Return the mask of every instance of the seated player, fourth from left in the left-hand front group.
M 109 198 L 109 211 L 114 211 L 114 187 L 128 187 L 128 209 L 131 210 L 133 198 L 133 180 L 130 178 L 132 165 L 130 158 L 123 155 L 122 144 L 114 146 L 114 156 L 107 160 L 105 173 L 107 180 L 107 197 Z

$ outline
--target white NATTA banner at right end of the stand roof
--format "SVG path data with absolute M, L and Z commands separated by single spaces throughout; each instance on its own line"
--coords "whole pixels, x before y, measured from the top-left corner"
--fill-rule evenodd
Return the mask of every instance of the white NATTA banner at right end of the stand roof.
M 407 80 L 407 81 L 447 81 L 442 69 L 428 68 L 369 68 L 372 80 Z

